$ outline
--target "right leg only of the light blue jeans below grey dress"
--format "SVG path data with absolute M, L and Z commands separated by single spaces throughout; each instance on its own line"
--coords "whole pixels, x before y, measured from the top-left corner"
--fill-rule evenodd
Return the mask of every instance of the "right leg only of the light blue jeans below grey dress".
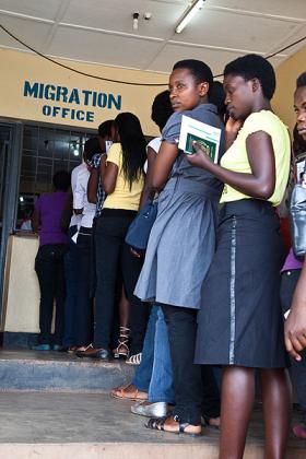
M 160 306 L 157 308 L 153 372 L 148 400 L 150 402 L 175 403 L 168 330 Z

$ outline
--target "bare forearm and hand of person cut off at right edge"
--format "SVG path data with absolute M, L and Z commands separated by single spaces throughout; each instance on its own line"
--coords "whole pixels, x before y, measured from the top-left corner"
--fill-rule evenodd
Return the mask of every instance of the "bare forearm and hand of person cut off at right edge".
M 298 352 L 306 349 L 306 258 L 293 295 L 290 315 L 285 321 L 285 345 L 296 361 Z

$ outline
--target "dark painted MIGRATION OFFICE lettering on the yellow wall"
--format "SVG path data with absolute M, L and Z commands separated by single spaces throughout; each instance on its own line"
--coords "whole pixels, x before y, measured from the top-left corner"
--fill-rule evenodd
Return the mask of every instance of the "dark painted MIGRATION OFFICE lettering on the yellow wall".
M 97 110 L 121 109 L 121 95 L 78 87 L 24 81 L 23 96 L 42 101 L 42 115 L 60 119 L 95 122 Z

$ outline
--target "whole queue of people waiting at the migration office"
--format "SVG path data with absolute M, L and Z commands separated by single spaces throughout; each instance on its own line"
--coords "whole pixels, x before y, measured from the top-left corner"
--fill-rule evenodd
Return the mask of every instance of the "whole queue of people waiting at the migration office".
M 220 428 L 221 459 L 244 455 L 255 370 L 266 457 L 285 457 L 291 364 L 304 416 L 293 432 L 306 437 L 306 262 L 292 250 L 285 259 L 280 235 L 291 140 L 271 108 L 274 90 L 274 70 L 260 56 L 229 62 L 223 86 L 207 63 L 177 62 L 169 90 L 152 105 L 161 138 L 146 146 L 130 113 L 105 121 L 72 172 L 72 199 L 55 180 L 33 217 L 42 292 L 35 349 L 138 365 L 111 396 L 134 401 L 132 413 L 148 416 L 151 429 L 198 436 L 203 425 Z M 294 107 L 296 139 L 305 142 L 306 72 Z M 179 150 L 183 115 L 220 129 L 216 163 L 200 143 L 193 154 Z M 157 215 L 143 254 L 125 239 L 148 199 L 157 200 Z M 56 286 L 46 287 L 46 278 L 56 284 L 63 271 L 66 308 Z M 54 298 L 66 320 L 51 342 Z

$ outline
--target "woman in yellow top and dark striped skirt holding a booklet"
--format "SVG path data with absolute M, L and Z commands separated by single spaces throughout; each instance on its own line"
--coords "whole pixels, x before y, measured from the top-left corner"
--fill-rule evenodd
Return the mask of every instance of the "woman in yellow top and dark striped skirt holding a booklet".
M 275 207 L 290 170 L 290 137 L 272 113 L 272 66 L 248 55 L 224 70 L 227 151 L 212 164 L 199 145 L 189 160 L 224 181 L 214 259 L 203 285 L 196 363 L 223 366 L 220 459 L 239 459 L 259 368 L 264 457 L 284 458 L 290 422 L 280 305 L 283 246 Z

